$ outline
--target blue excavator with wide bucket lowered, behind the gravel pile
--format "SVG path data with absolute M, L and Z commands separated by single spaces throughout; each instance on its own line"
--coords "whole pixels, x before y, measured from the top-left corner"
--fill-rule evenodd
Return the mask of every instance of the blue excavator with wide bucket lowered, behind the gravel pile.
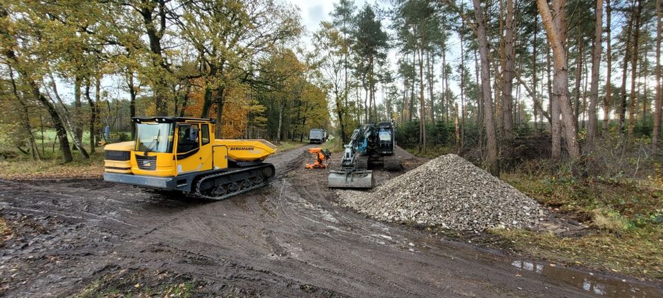
M 397 171 L 402 161 L 395 154 L 394 123 L 367 123 L 360 126 L 344 147 L 340 170 L 330 170 L 329 188 L 373 188 L 373 170 L 383 167 Z M 371 170 L 369 170 L 371 169 Z

